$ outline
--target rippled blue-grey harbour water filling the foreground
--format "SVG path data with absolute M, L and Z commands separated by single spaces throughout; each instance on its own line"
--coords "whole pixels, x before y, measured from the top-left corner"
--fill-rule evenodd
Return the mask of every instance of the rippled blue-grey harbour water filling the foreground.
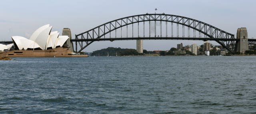
M 256 56 L 0 61 L 0 114 L 256 113 Z

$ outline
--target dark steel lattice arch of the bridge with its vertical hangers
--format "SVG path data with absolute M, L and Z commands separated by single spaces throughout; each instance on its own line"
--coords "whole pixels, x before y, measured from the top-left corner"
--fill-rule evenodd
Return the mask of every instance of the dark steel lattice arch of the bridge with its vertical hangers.
M 150 29 L 150 22 L 154 21 L 160 22 L 160 37 L 156 36 L 156 26 L 155 26 L 155 36 L 145 37 L 145 22 L 149 22 L 149 29 Z M 143 28 L 139 28 L 139 23 L 143 22 Z M 162 34 L 162 22 L 166 22 L 166 34 L 163 36 Z M 167 29 L 167 22 L 171 23 L 171 36 L 168 36 L 168 29 Z M 138 36 L 134 37 L 134 23 L 138 23 Z M 173 23 L 176 23 L 177 25 L 177 36 L 173 36 Z M 132 37 L 128 37 L 128 25 L 132 24 Z M 179 25 L 182 25 L 182 36 L 179 36 Z M 122 37 L 122 28 L 126 26 L 126 37 Z M 185 28 L 184 26 L 187 26 L 187 36 L 185 36 Z M 116 30 L 121 28 L 121 38 L 116 37 Z M 190 28 L 193 30 L 193 34 L 190 33 Z M 140 29 L 143 29 L 143 36 L 139 36 Z M 111 33 L 115 31 L 115 35 L 111 36 Z M 196 37 L 196 31 L 198 31 L 198 37 Z M 196 33 L 195 33 L 196 32 Z M 109 38 L 105 38 L 106 34 L 110 34 Z M 190 35 L 191 34 L 191 35 Z M 204 37 L 202 37 L 202 34 Z M 192 36 L 193 35 L 193 36 Z M 207 37 L 206 37 L 207 36 Z M 88 30 L 86 32 L 83 32 L 81 34 L 76 34 L 76 38 L 72 39 L 72 42 L 75 42 L 76 45 L 76 52 L 82 51 L 84 48 L 86 48 L 88 45 L 90 45 L 94 41 L 102 41 L 102 40 L 138 40 L 138 39 L 154 39 L 154 40 L 214 40 L 218 42 L 220 45 L 222 45 L 224 48 L 229 50 L 230 52 L 234 52 L 235 42 L 237 39 L 234 38 L 234 34 L 230 34 L 228 32 L 225 32 L 223 30 L 220 30 L 214 26 L 211 26 L 210 24 L 206 24 L 204 22 L 201 22 L 199 20 L 195 20 L 192 18 L 187 18 L 184 16 L 177 16 L 177 15 L 171 15 L 171 14 L 140 14 L 140 15 L 134 15 L 134 16 L 128 16 L 124 18 L 120 18 L 117 20 L 112 20 L 110 22 L 107 22 L 105 24 L 102 24 L 100 26 L 97 26 L 95 28 L 92 28 L 91 30 Z M 83 45 L 83 42 L 86 42 L 86 45 Z M 78 44 L 80 46 L 80 50 L 77 50 Z

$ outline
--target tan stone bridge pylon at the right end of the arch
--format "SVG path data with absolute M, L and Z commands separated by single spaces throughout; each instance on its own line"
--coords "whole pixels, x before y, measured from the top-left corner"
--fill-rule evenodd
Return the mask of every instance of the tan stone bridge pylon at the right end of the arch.
M 237 29 L 236 38 L 240 39 L 239 41 L 236 41 L 236 52 L 244 53 L 246 50 L 249 50 L 248 34 L 245 27 Z

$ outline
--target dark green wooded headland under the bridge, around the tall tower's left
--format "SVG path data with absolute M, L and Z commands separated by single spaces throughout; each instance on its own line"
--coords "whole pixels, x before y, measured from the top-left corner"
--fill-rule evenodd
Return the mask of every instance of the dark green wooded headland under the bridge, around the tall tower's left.
M 93 51 L 91 56 L 127 56 L 127 55 L 143 55 L 138 53 L 135 49 L 122 49 L 122 48 L 114 48 L 108 47 L 101 50 Z

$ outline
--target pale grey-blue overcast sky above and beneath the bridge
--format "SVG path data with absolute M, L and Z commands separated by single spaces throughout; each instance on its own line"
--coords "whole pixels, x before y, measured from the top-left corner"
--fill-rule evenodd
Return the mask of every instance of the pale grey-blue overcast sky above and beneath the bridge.
M 11 36 L 30 35 L 45 24 L 62 33 L 70 28 L 72 38 L 100 24 L 136 14 L 174 14 L 200 20 L 236 35 L 237 28 L 246 27 L 248 38 L 256 38 L 255 0 L 2 0 L 0 3 L 0 40 Z M 144 40 L 146 50 L 169 50 L 178 43 L 194 40 Z M 219 45 L 214 41 L 212 44 Z M 84 51 L 107 47 L 136 48 L 136 41 L 93 42 Z

